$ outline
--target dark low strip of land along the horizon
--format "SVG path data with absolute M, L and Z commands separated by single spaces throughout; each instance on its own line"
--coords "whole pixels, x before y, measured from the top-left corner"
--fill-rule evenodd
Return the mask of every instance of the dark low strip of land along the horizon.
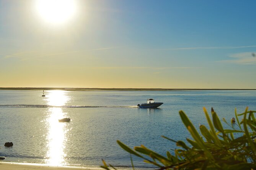
M 0 87 L 0 90 L 65 90 L 65 91 L 183 91 L 183 90 L 256 90 L 254 88 L 55 88 L 55 87 Z

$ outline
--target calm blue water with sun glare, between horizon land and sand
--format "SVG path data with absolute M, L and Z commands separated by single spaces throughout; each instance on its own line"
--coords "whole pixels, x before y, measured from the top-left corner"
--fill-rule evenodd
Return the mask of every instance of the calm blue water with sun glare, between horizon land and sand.
M 207 125 L 202 107 L 211 107 L 230 122 L 238 113 L 256 110 L 256 90 L 184 91 L 42 91 L 0 90 L 0 157 L 6 162 L 98 167 L 104 159 L 116 167 L 130 167 L 131 148 L 143 144 L 166 154 L 175 149 L 161 135 L 191 138 L 179 111 L 192 123 Z M 140 109 L 147 98 L 163 102 L 158 109 Z M 70 122 L 58 119 L 70 117 Z M 223 121 L 222 121 L 223 122 Z M 224 123 L 224 127 L 227 127 Z M 13 142 L 7 148 L 5 142 Z M 132 157 L 135 167 L 152 167 Z

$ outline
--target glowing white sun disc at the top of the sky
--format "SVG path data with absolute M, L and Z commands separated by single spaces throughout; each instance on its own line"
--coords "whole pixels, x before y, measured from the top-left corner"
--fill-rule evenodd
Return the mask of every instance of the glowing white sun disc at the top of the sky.
M 36 0 L 36 11 L 44 21 L 61 24 L 75 16 L 75 0 Z

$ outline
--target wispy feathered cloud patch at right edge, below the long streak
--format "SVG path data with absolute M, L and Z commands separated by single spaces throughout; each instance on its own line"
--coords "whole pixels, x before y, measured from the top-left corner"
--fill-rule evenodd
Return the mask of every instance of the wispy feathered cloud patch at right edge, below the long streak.
M 236 64 L 256 64 L 256 57 L 253 56 L 254 53 L 236 53 L 230 54 L 228 57 L 232 59 L 222 60 L 222 63 L 236 63 Z

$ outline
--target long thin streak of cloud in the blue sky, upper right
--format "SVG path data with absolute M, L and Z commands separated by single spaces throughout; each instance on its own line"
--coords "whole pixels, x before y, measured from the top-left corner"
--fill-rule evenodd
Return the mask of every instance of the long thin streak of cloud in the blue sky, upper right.
M 207 50 L 207 49 L 237 49 L 237 48 L 253 48 L 256 45 L 249 45 L 249 46 L 238 46 L 238 47 L 182 47 L 182 48 L 160 48 L 160 49 L 151 49 L 151 50 Z

